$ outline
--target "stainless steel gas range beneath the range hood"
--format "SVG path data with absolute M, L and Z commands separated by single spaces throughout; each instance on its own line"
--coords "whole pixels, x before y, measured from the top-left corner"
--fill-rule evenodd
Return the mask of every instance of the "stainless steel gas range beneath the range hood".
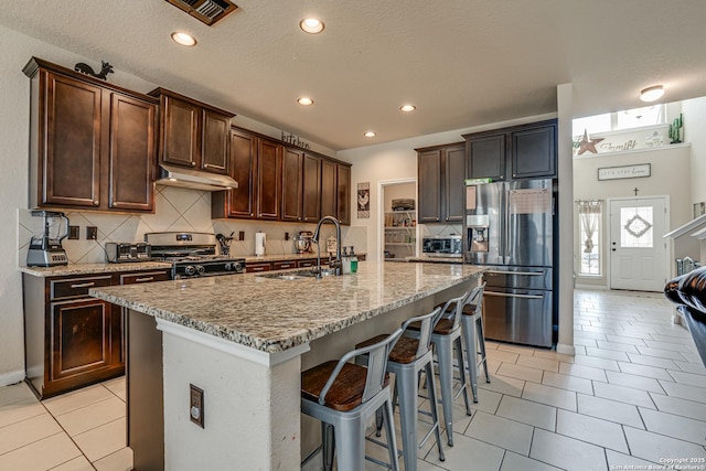
M 147 233 L 152 259 L 172 264 L 172 279 L 237 275 L 245 272 L 245 259 L 216 254 L 216 236 L 208 233 Z

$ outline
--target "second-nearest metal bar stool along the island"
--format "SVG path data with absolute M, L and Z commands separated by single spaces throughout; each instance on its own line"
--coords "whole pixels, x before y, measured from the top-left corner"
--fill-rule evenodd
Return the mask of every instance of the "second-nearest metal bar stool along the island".
M 439 449 L 439 460 L 445 461 L 443 448 L 441 446 L 441 427 L 439 425 L 439 413 L 437 409 L 437 394 L 434 379 L 434 354 L 430 349 L 431 329 L 436 324 L 441 309 L 436 308 L 428 314 L 408 319 L 402 324 L 402 330 L 417 323 L 418 338 L 402 336 L 389 352 L 387 357 L 387 372 L 395 373 L 395 393 L 393 397 L 393 413 L 395 410 L 395 399 L 399 399 L 399 419 L 402 426 L 402 456 L 405 460 L 406 471 L 417 470 L 417 450 L 427 441 L 432 432 L 436 432 L 437 448 Z M 385 334 L 377 335 L 355 345 L 356 349 L 377 343 L 385 338 Z M 363 357 L 360 357 L 364 360 Z M 425 372 L 429 378 L 430 399 L 429 408 L 431 429 L 424 437 L 421 442 L 417 439 L 417 395 L 419 388 L 419 375 Z M 378 414 L 377 431 L 382 428 L 381 415 Z

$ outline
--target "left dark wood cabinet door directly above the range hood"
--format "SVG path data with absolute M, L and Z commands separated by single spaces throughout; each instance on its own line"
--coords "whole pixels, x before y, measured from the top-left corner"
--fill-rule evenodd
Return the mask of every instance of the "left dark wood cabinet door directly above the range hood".
M 170 96 L 162 97 L 162 156 L 164 163 L 195 168 L 199 164 L 199 129 L 202 109 Z

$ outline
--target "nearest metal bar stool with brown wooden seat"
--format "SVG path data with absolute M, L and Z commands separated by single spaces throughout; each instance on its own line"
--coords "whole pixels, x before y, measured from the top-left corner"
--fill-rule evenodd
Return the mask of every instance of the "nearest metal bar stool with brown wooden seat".
M 385 365 L 387 355 L 400 335 L 402 329 L 397 329 L 382 342 L 353 350 L 338 362 L 325 362 L 301 374 L 301 411 L 321 420 L 325 471 L 333 467 L 334 450 L 338 450 L 340 471 L 361 471 L 365 468 L 365 459 L 387 464 L 365 456 L 366 425 L 381 408 L 387 436 L 389 469 L 399 470 L 389 374 L 385 371 Z M 359 355 L 367 355 L 367 367 L 349 363 Z M 315 451 L 303 462 L 314 454 Z

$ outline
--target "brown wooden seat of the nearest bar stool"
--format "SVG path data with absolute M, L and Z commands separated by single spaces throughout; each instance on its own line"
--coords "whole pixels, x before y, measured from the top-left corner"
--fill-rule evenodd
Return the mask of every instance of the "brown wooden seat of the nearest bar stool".
M 382 335 L 385 340 L 388 335 Z M 374 344 L 377 342 L 371 343 Z M 319 402 L 321 389 L 327 384 L 327 381 L 333 373 L 335 365 L 339 362 L 332 360 L 330 362 L 322 363 L 310 370 L 307 370 L 301 374 L 301 396 L 306 399 Z M 353 363 L 346 363 L 343 365 L 343 370 L 339 373 L 335 383 L 329 389 L 324 406 L 334 410 L 347 411 L 356 408 L 363 404 L 363 389 L 365 389 L 365 378 L 367 375 L 367 368 Z M 383 386 L 389 384 L 389 374 L 385 373 L 385 382 Z

